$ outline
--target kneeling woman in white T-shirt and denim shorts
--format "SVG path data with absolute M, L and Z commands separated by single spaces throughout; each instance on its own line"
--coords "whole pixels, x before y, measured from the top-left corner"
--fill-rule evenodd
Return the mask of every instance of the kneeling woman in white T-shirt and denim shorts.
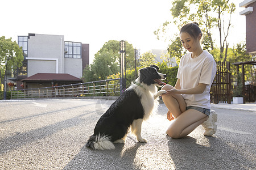
M 182 138 L 205 121 L 204 135 L 216 132 L 217 114 L 210 112 L 210 86 L 216 75 L 213 56 L 200 45 L 203 33 L 197 23 L 185 24 L 180 29 L 180 40 L 189 53 L 180 59 L 175 87 L 162 87 L 168 108 L 168 120 L 174 120 L 166 133 L 172 138 Z M 211 114 L 212 113 L 212 114 Z

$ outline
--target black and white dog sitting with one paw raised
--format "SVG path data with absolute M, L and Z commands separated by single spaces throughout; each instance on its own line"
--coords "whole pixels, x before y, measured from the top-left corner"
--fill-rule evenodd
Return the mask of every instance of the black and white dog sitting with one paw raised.
M 165 90 L 157 91 L 156 86 L 166 84 L 161 81 L 166 74 L 157 70 L 159 67 L 155 65 L 139 70 L 139 77 L 98 120 L 94 134 L 86 143 L 87 147 L 93 150 L 114 149 L 113 143 L 125 143 L 130 128 L 139 142 L 147 142 L 141 137 L 142 122 L 156 111 L 156 99 L 166 93 Z

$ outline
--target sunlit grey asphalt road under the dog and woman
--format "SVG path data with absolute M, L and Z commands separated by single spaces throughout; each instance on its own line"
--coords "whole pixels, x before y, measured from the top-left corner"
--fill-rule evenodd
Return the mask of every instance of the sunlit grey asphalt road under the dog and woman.
M 199 126 L 183 139 L 165 133 L 167 109 L 143 122 L 115 150 L 86 148 L 113 100 L 0 101 L 0 169 L 256 169 L 256 112 L 216 108 L 218 129 Z

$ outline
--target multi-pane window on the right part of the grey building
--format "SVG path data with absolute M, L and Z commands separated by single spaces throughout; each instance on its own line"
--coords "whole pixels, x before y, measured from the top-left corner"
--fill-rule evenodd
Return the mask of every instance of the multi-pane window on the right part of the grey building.
M 65 41 L 65 58 L 81 58 L 81 42 Z

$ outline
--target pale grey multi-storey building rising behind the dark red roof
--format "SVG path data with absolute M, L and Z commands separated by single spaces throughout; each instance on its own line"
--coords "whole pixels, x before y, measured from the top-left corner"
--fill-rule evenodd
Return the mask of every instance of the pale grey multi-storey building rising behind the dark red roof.
M 89 64 L 89 44 L 65 41 L 63 35 L 28 33 L 18 36 L 18 44 L 24 54 L 23 66 L 12 79 L 18 89 L 22 79 L 38 73 L 69 74 L 80 79 Z

